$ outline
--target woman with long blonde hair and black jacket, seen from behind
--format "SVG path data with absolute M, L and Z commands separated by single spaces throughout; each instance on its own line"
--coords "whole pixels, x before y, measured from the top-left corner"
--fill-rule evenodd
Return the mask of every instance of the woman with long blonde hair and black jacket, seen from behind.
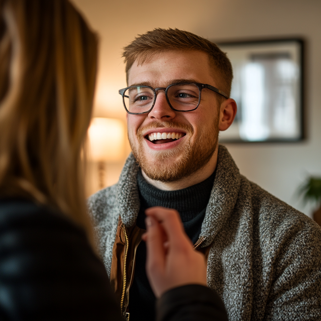
M 81 152 L 96 69 L 97 36 L 67 0 L 0 0 L 1 320 L 121 319 L 92 250 L 83 192 Z M 182 303 L 175 291 L 205 285 L 206 267 L 187 245 L 190 268 L 183 279 L 171 279 L 177 267 L 170 266 L 168 249 L 177 247 L 166 238 L 164 251 L 170 216 L 162 213 L 150 213 L 145 239 L 150 249 L 159 244 L 150 251 L 148 271 L 162 295 L 159 319 L 169 320 L 175 317 L 172 302 L 175 311 Z M 187 240 L 178 235 L 178 243 Z M 153 268 L 160 253 L 167 273 Z M 201 273 L 195 276 L 196 266 Z

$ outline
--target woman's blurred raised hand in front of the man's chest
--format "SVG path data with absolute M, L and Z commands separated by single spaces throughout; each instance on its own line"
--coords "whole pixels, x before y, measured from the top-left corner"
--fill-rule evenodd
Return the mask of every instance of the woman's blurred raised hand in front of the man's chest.
M 178 212 L 151 207 L 145 213 L 146 273 L 156 297 L 181 285 L 206 285 L 204 255 L 194 250 Z

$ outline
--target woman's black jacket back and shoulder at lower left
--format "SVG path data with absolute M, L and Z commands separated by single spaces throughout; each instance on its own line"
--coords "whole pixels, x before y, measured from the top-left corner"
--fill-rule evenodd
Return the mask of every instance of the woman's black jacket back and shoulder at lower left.
M 0 315 L 8 320 L 110 320 L 108 308 L 118 316 L 82 228 L 29 201 L 0 201 L 0 283 Z

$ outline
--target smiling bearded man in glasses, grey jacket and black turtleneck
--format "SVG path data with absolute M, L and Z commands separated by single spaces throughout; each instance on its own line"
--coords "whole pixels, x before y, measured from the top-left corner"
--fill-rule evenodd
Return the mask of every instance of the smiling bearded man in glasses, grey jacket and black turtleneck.
M 321 229 L 241 176 L 218 145 L 237 109 L 229 59 L 177 29 L 139 36 L 124 56 L 132 154 L 119 182 L 89 200 L 123 315 L 154 319 L 141 235 L 144 211 L 163 206 L 207 258 L 229 320 L 320 320 Z

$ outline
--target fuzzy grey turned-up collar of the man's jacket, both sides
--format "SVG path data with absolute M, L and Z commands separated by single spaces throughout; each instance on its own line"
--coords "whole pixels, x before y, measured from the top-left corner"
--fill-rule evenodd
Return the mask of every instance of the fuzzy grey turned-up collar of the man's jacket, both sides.
M 134 225 L 140 207 L 138 169 L 130 153 L 117 184 L 117 208 L 126 227 Z M 205 237 L 202 247 L 213 242 L 230 217 L 238 198 L 240 182 L 241 176 L 234 160 L 227 149 L 219 145 L 216 176 L 201 229 L 201 236 Z

